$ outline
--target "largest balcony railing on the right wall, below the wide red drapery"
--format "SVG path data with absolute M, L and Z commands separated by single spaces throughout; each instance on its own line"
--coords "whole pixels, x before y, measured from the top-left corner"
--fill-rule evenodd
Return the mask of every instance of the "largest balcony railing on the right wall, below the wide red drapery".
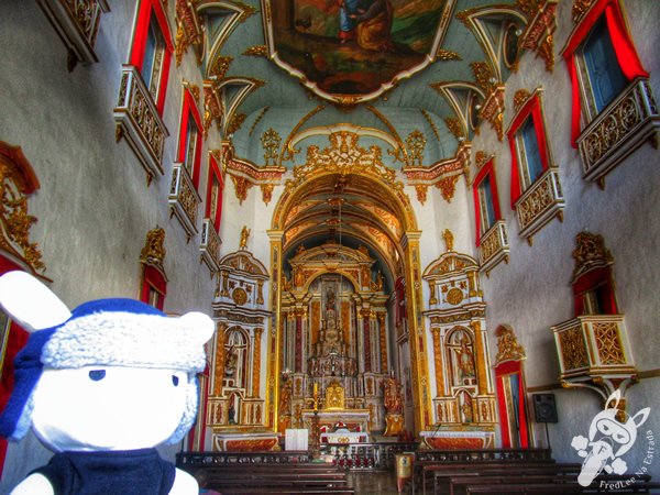
M 649 81 L 636 79 L 578 138 L 584 178 L 602 183 L 647 139 L 658 140 L 660 114 Z

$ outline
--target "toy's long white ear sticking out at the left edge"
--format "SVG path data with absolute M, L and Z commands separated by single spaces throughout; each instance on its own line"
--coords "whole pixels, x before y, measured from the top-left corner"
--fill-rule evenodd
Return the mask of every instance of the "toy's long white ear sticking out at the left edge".
M 25 272 L 0 277 L 0 306 L 30 332 L 55 327 L 72 316 L 48 287 Z

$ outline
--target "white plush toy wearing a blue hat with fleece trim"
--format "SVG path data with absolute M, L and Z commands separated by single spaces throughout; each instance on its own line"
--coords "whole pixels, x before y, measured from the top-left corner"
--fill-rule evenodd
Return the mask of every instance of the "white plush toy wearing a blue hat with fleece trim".
M 25 330 L 0 435 L 32 427 L 55 455 L 16 494 L 198 493 L 155 447 L 176 443 L 197 414 L 197 378 L 212 320 L 178 318 L 132 299 L 99 299 L 70 312 L 23 272 L 0 277 L 0 305 Z

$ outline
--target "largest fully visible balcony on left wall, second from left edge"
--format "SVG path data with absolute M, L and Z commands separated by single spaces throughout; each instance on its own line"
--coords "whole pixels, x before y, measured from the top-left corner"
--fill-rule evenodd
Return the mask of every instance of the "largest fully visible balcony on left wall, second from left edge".
M 163 145 L 169 135 L 138 69 L 122 68 L 119 100 L 114 108 L 117 141 L 125 138 L 146 170 L 147 183 L 163 175 Z

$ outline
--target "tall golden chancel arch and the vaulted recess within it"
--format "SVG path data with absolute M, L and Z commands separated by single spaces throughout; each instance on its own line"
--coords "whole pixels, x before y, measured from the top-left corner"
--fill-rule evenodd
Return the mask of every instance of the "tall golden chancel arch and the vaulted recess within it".
M 345 384 L 348 404 L 370 410 L 374 428 L 382 429 L 382 384 L 394 374 L 408 399 L 406 429 L 424 429 L 430 422 L 426 341 L 414 337 L 422 324 L 416 318 L 419 232 L 403 185 L 378 164 L 361 170 L 311 167 L 294 170 L 294 177 L 268 232 L 276 329 L 267 372 L 270 424 L 278 425 L 280 416 L 299 424 L 298 409 L 309 405 L 314 387 L 322 392 L 328 385 L 315 366 L 332 348 L 328 326 L 336 324 L 336 315 L 345 366 L 355 366 Z M 329 305 L 331 287 L 336 300 Z M 293 396 L 284 406 L 289 409 L 280 410 L 286 380 L 293 380 Z

